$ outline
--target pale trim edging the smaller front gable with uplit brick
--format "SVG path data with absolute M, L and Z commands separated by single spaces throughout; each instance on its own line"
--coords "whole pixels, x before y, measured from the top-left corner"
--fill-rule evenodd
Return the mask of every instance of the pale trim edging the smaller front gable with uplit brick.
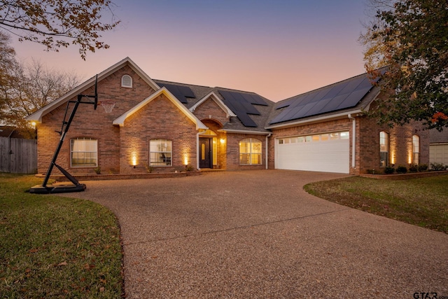
M 167 88 L 160 88 L 160 90 L 154 92 L 152 95 L 144 99 L 143 101 L 139 102 L 136 106 L 132 107 L 130 110 L 123 113 L 121 116 L 116 118 L 116 120 L 113 120 L 113 125 L 119 125 L 120 127 L 124 127 L 126 118 L 132 116 L 132 114 L 136 113 L 141 109 L 143 106 L 148 104 L 149 102 L 153 101 L 156 97 L 159 97 L 160 95 L 165 95 L 167 99 L 169 99 L 179 110 L 181 110 L 190 120 L 193 121 L 196 125 L 196 130 L 207 130 L 209 127 L 204 125 L 190 110 L 184 106 L 179 99 L 176 99 L 174 95 L 167 90 Z

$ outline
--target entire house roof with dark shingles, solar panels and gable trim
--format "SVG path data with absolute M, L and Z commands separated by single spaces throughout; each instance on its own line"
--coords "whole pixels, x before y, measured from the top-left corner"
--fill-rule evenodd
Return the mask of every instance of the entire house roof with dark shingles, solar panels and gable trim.
M 379 87 L 374 86 L 367 74 L 318 88 L 295 97 L 274 103 L 255 92 L 232 90 L 229 88 L 211 88 L 209 86 L 153 80 L 142 71 L 129 57 L 114 64 L 98 74 L 98 81 L 128 65 L 156 91 L 165 90 L 169 98 L 191 118 L 193 111 L 208 99 L 213 100 L 225 111 L 229 118 L 223 124 L 225 132 L 251 132 L 253 134 L 269 134 L 269 130 L 278 127 L 290 127 L 300 123 L 346 118 L 348 114 L 356 115 L 368 110 L 370 103 L 379 94 Z M 41 122 L 42 116 L 55 109 L 59 104 L 75 97 L 78 93 L 92 88 L 95 77 L 85 81 L 66 95 L 56 99 L 42 109 L 31 114 L 27 120 Z M 156 92 L 158 93 L 158 92 Z M 114 124 L 123 125 L 125 118 L 140 109 L 153 97 L 141 99 L 141 102 L 122 116 L 114 120 Z M 191 114 L 191 115 L 190 115 Z M 192 120 L 200 128 L 194 116 Z

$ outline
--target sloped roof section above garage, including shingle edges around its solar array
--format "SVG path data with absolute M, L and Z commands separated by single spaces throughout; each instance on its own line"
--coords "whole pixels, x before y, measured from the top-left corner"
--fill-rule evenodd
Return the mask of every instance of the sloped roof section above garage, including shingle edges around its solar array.
M 367 74 L 318 88 L 302 95 L 290 97 L 274 105 L 268 127 L 286 125 L 292 121 L 331 116 L 365 109 L 374 97 L 364 101 L 372 93 L 374 85 Z M 374 95 L 379 93 L 376 88 Z

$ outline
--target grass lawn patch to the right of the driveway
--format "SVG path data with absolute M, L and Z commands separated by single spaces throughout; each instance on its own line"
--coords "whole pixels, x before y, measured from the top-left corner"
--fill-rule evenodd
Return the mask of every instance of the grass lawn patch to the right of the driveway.
M 448 176 L 388 181 L 353 176 L 309 183 L 330 202 L 448 233 Z

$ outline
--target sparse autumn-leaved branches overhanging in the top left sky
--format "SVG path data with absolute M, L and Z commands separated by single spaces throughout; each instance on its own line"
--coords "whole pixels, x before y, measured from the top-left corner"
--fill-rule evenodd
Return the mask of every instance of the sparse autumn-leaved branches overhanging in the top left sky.
M 100 32 L 116 27 L 110 0 L 10 0 L 0 1 L 0 28 L 19 36 L 20 41 L 34 41 L 58 51 L 72 43 L 79 46 L 85 60 L 87 51 L 109 48 L 99 41 Z M 111 22 L 103 23 L 104 11 Z

